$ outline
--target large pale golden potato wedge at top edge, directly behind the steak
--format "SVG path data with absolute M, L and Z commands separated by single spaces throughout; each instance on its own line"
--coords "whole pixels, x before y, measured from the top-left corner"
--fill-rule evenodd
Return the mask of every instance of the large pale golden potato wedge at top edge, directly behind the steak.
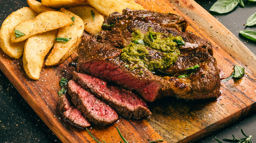
M 87 2 L 105 16 L 109 16 L 116 11 L 122 13 L 125 8 L 144 9 L 141 5 L 136 4 L 134 0 L 87 0 Z

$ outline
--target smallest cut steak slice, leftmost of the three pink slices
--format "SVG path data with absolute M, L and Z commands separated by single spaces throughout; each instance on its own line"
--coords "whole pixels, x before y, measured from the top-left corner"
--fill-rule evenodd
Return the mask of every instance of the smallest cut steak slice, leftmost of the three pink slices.
M 73 124 L 86 128 L 91 126 L 90 122 L 83 116 L 82 112 L 74 106 L 71 106 L 71 102 L 67 95 L 62 95 L 59 98 L 59 110 L 63 112 L 64 118 L 70 120 Z

